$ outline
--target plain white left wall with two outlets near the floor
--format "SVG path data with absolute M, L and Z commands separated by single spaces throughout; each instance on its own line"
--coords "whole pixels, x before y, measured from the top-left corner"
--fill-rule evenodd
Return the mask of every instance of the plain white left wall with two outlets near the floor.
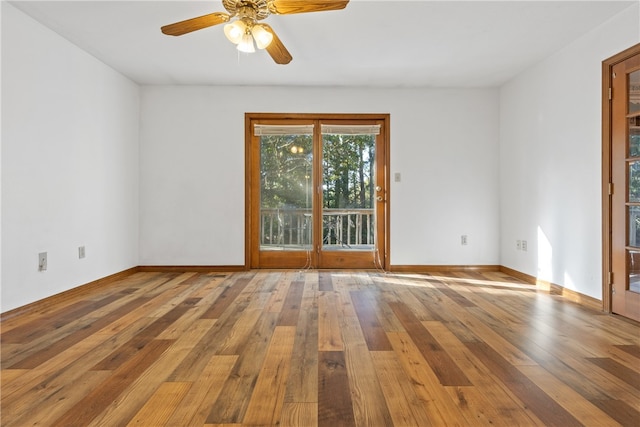
M 2 2 L 3 312 L 138 265 L 138 124 L 137 85 Z

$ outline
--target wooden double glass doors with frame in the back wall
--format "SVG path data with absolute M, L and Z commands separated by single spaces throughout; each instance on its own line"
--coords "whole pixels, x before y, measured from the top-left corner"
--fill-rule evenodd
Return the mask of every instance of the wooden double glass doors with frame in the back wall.
M 247 264 L 385 268 L 388 115 L 247 114 Z

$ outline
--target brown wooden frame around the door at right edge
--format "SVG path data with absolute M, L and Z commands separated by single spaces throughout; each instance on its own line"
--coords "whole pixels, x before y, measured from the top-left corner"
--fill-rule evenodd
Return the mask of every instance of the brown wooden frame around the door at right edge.
M 611 90 L 613 67 L 640 54 L 640 43 L 602 61 L 602 309 L 611 313 L 612 291 L 612 125 Z

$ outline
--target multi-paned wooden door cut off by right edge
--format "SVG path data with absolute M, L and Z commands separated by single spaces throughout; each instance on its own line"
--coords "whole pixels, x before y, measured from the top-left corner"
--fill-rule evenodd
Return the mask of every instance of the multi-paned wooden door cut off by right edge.
M 640 321 L 640 45 L 610 71 L 611 311 Z

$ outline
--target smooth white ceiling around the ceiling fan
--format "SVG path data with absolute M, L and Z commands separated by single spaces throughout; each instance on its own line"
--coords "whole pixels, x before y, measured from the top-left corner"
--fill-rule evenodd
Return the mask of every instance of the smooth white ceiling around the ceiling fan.
M 11 3 L 140 84 L 486 87 L 637 1 L 351 0 L 340 11 L 271 15 L 288 65 L 265 51 L 240 54 L 222 25 L 160 32 L 224 11 L 219 0 Z

